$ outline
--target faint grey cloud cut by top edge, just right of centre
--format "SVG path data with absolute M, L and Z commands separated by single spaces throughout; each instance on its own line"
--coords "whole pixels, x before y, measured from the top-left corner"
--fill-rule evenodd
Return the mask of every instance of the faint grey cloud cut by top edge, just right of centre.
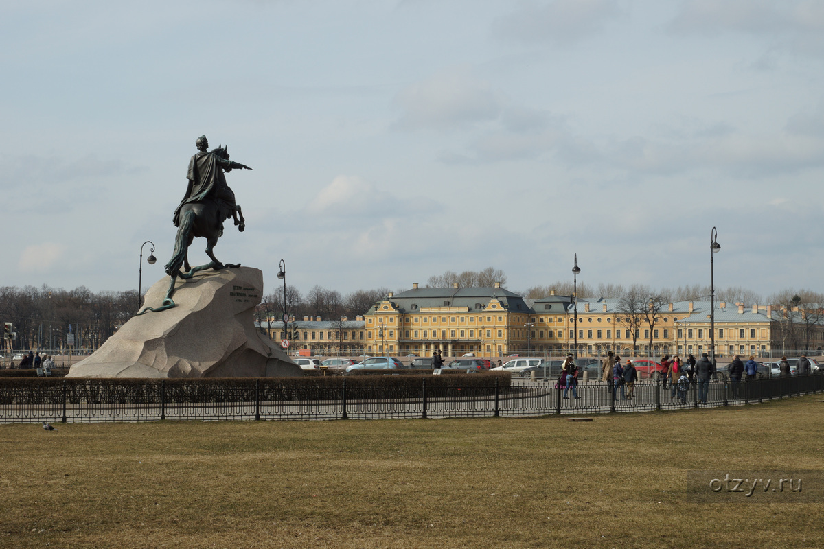
M 523 42 L 569 44 L 600 33 L 624 10 L 616 0 L 555 0 L 545 6 L 527 4 L 495 22 L 501 38 Z

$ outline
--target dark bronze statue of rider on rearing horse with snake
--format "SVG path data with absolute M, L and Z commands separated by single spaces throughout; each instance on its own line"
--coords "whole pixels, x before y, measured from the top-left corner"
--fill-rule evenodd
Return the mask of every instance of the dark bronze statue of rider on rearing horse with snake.
M 191 278 L 195 272 L 208 268 L 217 271 L 222 268 L 240 267 L 240 263 L 224 265 L 218 261 L 218 258 L 214 257 L 213 248 L 223 235 L 224 220 L 231 217 L 237 230 L 242 232 L 246 229 L 243 212 L 235 202 L 235 193 L 226 184 L 224 173 L 235 169 L 251 170 L 251 168 L 239 162 L 230 161 L 228 147 L 218 146 L 217 149 L 208 151 L 208 139 L 205 135 L 198 137 L 194 144 L 198 147 L 198 152 L 189 161 L 189 172 L 186 174 L 189 185 L 186 188 L 185 197 L 175 210 L 173 220 L 177 227 L 175 251 L 169 263 L 166 263 L 166 274 L 171 277 L 171 284 L 160 307 L 157 309 L 147 307 L 138 314 L 147 311 L 157 313 L 174 307 L 175 301 L 171 299 L 171 296 L 175 293 L 177 277 Z M 202 236 L 206 239 L 206 254 L 212 261 L 190 268 L 189 246 L 195 236 Z

